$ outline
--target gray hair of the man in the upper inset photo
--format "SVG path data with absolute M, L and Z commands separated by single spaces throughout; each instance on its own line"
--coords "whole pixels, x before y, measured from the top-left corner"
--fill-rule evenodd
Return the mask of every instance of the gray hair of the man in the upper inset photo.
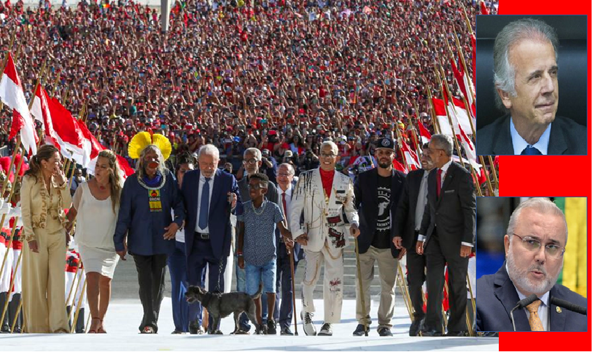
M 541 20 L 523 18 L 513 21 L 502 29 L 494 41 L 494 87 L 495 105 L 506 112 L 497 89 L 516 97 L 515 68 L 509 62 L 509 49 L 520 40 L 547 41 L 554 47 L 558 62 L 558 37 L 552 26 Z

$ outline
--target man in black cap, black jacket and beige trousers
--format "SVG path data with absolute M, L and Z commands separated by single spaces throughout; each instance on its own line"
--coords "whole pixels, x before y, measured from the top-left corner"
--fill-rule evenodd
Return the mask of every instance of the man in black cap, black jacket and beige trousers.
M 405 184 L 405 175 L 393 169 L 396 146 L 391 138 L 382 138 L 375 145 L 378 167 L 359 175 L 354 185 L 354 206 L 359 211 L 359 254 L 364 303 L 362 307 L 359 284 L 356 284 L 356 320 L 359 325 L 354 336 L 364 335 L 370 325 L 370 282 L 373 281 L 375 261 L 379 266 L 381 299 L 379 303 L 380 336 L 392 336 L 391 318 L 396 298 L 397 261 L 405 249 L 396 250 L 391 240 L 391 219 Z

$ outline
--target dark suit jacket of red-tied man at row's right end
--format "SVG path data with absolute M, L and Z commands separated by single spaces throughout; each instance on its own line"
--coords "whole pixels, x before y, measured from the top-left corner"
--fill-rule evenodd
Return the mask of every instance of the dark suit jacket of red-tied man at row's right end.
M 461 243 L 476 237 L 476 197 L 470 171 L 451 162 L 437 199 L 437 168 L 428 175 L 428 203 L 424 208 L 420 234 L 430 240 L 437 227 L 440 243 L 449 253 L 459 253 Z M 454 252 L 451 252 L 454 251 Z

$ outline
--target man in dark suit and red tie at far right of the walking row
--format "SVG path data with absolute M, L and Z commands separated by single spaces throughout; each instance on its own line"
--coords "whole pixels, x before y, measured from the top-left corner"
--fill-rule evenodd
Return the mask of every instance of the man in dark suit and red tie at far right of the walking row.
M 424 208 L 416 253 L 426 254 L 428 302 L 423 336 L 440 336 L 444 267 L 449 272 L 447 336 L 465 336 L 467 263 L 474 246 L 476 197 L 470 171 L 451 160 L 453 139 L 433 135 L 428 158 L 435 169 L 428 175 L 428 204 Z

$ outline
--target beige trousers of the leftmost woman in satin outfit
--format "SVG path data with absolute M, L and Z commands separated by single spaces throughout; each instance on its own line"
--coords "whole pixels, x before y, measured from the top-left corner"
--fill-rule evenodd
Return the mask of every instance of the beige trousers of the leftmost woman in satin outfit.
M 36 229 L 39 252 L 23 244 L 22 298 L 26 331 L 70 331 L 66 317 L 66 235 L 63 230 L 47 234 Z

